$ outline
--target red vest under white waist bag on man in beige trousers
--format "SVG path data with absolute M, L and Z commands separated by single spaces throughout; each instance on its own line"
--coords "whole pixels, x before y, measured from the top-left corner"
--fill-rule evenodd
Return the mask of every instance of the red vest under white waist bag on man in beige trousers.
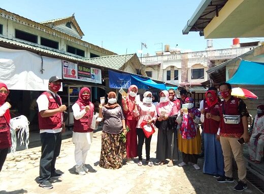
M 239 98 L 232 96 L 227 102 L 220 102 L 220 128 L 221 133 L 244 133 L 242 119 L 239 124 L 225 124 L 223 119 L 223 109 L 225 115 L 240 115 L 238 111 Z

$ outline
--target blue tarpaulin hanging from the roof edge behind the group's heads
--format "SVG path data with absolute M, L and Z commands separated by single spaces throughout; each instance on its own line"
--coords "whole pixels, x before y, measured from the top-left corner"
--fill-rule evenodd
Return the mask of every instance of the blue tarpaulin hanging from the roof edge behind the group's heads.
M 168 90 L 177 87 L 166 87 L 164 84 L 158 84 L 150 78 L 140 77 L 137 75 L 131 75 L 129 73 L 118 73 L 115 71 L 108 70 L 109 74 L 109 87 L 110 88 L 129 88 L 130 85 L 136 85 L 139 89 L 148 90 L 150 87 L 157 88 L 160 90 Z

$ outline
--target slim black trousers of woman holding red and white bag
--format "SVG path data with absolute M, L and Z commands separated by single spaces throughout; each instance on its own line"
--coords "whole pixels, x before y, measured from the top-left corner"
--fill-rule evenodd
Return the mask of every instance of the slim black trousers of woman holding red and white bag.
M 138 135 L 138 156 L 139 156 L 139 160 L 142 160 L 142 147 L 144 144 L 144 140 L 145 140 L 145 147 L 146 147 L 146 160 L 149 160 L 150 159 L 150 142 L 151 142 L 152 135 L 149 138 L 147 138 L 145 136 L 143 129 L 141 129 L 141 128 L 137 128 L 137 135 Z

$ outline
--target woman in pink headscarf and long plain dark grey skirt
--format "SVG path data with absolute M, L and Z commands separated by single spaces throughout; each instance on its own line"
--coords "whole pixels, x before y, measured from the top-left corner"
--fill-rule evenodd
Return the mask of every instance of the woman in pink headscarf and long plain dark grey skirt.
M 173 160 L 178 160 L 176 118 L 178 115 L 177 106 L 170 101 L 169 92 L 163 90 L 160 93 L 160 101 L 156 106 L 158 128 L 156 158 L 160 160 L 159 165 L 163 165 L 169 159 L 168 167 L 173 166 Z

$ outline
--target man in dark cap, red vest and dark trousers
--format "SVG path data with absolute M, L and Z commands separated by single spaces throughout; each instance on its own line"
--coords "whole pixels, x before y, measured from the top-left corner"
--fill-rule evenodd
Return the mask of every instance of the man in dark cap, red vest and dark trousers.
M 53 188 L 49 179 L 61 177 L 61 174 L 55 172 L 55 162 L 60 152 L 61 132 L 65 131 L 63 112 L 67 107 L 61 104 L 57 94 L 60 87 L 61 78 L 52 76 L 49 79 L 49 90 L 37 99 L 42 144 L 39 186 L 45 189 Z

